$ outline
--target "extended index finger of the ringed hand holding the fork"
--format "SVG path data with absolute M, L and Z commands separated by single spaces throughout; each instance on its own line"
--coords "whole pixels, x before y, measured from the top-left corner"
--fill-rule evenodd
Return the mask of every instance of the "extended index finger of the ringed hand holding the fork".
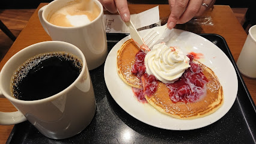
M 197 0 L 195 0 L 197 1 Z M 178 19 L 180 19 L 180 16 L 183 14 L 184 10 L 187 7 L 187 4 L 189 0 L 176 0 L 175 2 L 173 0 L 169 0 L 170 7 L 171 7 L 171 14 L 168 19 L 167 27 L 169 29 L 174 28 L 176 23 L 178 22 Z

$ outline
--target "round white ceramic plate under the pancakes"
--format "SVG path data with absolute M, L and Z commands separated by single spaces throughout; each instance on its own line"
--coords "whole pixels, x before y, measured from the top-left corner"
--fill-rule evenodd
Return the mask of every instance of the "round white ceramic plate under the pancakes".
M 147 31 L 141 31 L 140 34 L 144 35 Z M 104 69 L 106 86 L 122 109 L 145 124 L 167 130 L 193 130 L 205 127 L 218 121 L 233 106 L 238 86 L 236 71 L 225 53 L 206 38 L 179 29 L 174 29 L 173 32 L 173 36 L 166 43 L 168 46 L 180 47 L 184 53 L 202 53 L 203 58 L 198 60 L 218 76 L 224 89 L 224 104 L 216 112 L 203 118 L 181 120 L 159 112 L 148 103 L 140 103 L 133 95 L 132 88 L 126 85 L 117 73 L 117 50 L 130 39 L 130 35 L 119 41 L 109 52 Z

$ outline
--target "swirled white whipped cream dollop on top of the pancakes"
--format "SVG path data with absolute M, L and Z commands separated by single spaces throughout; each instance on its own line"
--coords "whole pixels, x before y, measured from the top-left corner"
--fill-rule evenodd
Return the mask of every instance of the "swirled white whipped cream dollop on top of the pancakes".
M 144 59 L 146 71 L 163 83 L 174 83 L 190 67 L 189 58 L 178 49 L 165 43 L 156 44 Z

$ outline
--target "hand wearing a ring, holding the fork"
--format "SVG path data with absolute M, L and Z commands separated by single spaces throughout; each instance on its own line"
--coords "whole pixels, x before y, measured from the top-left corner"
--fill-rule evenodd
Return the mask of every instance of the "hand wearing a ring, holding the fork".
M 176 24 L 186 23 L 195 16 L 201 16 L 211 8 L 216 0 L 168 0 L 171 8 L 167 27 L 174 28 Z M 207 7 L 208 6 L 208 7 Z

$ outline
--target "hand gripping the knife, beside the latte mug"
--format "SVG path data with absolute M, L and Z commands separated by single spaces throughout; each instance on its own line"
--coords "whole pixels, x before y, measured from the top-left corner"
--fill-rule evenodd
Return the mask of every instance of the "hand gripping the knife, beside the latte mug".
M 102 3 L 103 7 L 110 13 L 117 13 L 118 10 L 124 22 L 130 20 L 130 11 L 126 0 L 99 0 L 99 2 Z

